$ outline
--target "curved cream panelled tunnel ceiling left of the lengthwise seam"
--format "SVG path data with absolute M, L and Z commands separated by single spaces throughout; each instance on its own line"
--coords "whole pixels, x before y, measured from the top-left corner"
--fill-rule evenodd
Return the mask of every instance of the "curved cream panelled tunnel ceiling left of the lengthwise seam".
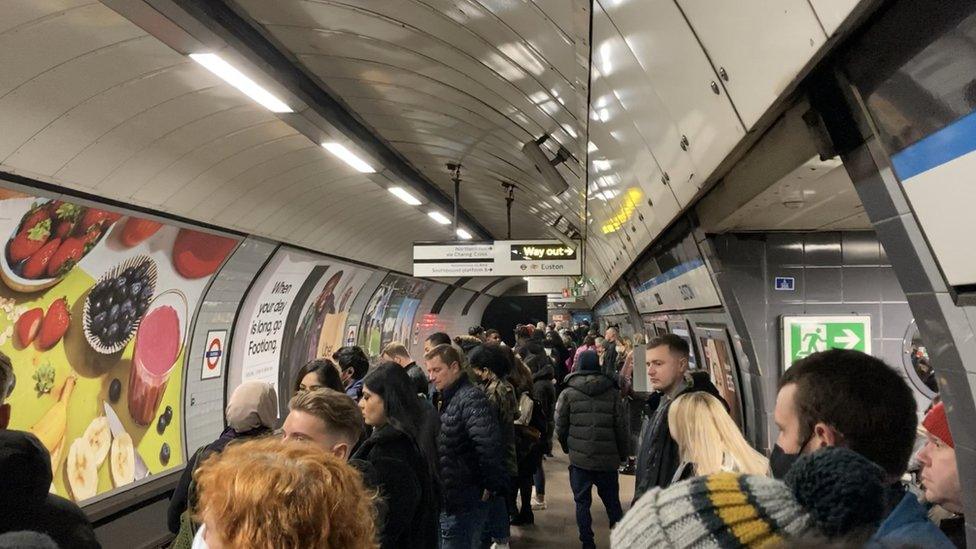
M 391 13 L 339 2 L 237 7 L 272 18 L 269 31 L 288 29 L 285 53 L 448 195 L 445 164 L 460 162 L 461 205 L 491 233 L 505 234 L 499 180 L 538 188 L 520 149 L 543 133 L 575 157 L 560 171 L 582 195 L 587 66 L 569 53 L 588 21 L 573 19 L 576 2 L 371 4 Z M 0 171 L 406 272 L 412 242 L 453 238 L 426 209 L 323 151 L 296 115 L 264 110 L 105 4 L 25 0 L 5 14 Z M 333 26 L 320 28 L 323 18 Z M 517 192 L 513 236 L 550 237 L 547 223 L 580 216 L 582 204 L 566 198 L 574 191 Z

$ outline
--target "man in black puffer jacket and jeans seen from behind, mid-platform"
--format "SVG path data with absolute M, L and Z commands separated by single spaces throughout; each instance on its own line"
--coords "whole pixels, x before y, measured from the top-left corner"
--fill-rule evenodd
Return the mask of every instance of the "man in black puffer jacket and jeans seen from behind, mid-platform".
M 600 371 L 596 351 L 581 353 L 579 371 L 566 376 L 566 388 L 556 403 L 556 435 L 569 454 L 569 483 L 576 500 L 580 542 L 584 549 L 596 547 L 591 489 L 596 486 L 613 528 L 624 514 L 617 467 L 627 459 L 627 424 L 620 391 Z

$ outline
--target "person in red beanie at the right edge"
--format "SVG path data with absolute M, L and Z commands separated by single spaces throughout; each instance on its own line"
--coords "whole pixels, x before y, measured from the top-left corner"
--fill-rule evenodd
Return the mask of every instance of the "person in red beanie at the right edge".
M 956 547 L 966 547 L 966 521 L 963 517 L 962 485 L 956 466 L 956 443 L 949 431 L 945 404 L 940 402 L 922 420 L 925 446 L 918 452 L 922 465 L 921 481 L 925 500 L 952 513 L 939 522 L 939 529 Z

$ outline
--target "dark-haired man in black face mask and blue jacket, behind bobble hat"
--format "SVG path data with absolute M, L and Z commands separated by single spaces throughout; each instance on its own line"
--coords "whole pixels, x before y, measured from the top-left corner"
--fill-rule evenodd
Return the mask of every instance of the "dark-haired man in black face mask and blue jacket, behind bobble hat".
M 773 409 L 779 427 L 770 456 L 773 476 L 784 478 L 800 455 L 849 448 L 886 474 L 886 518 L 872 544 L 951 548 L 900 482 L 915 440 L 916 408 L 905 380 L 875 357 L 831 349 L 798 360 L 780 378 Z

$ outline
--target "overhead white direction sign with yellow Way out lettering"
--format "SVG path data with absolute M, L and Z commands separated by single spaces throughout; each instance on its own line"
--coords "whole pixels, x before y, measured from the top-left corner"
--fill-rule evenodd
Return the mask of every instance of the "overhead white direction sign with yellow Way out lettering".
M 578 276 L 579 253 L 558 240 L 415 242 L 413 275 Z

